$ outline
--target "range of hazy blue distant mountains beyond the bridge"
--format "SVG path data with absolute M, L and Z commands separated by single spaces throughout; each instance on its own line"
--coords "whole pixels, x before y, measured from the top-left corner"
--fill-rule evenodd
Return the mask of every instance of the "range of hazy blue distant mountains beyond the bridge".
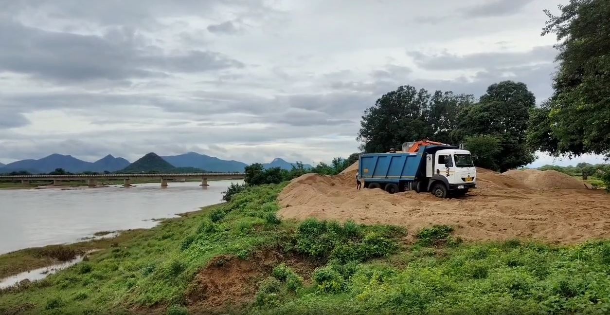
M 151 154 L 154 154 L 154 156 Z M 165 164 L 162 162 L 165 162 Z M 292 165 L 296 164 L 286 162 L 279 157 L 273 159 L 271 163 L 263 164 L 265 168 L 280 167 L 285 170 L 290 170 Z M 130 166 L 133 167 L 129 168 Z M 248 166 L 248 164 L 243 162 L 222 160 L 218 159 L 218 157 L 207 156 L 206 154 L 195 152 L 161 157 L 155 153 L 148 153 L 132 164 L 126 159 L 123 159 L 123 157 L 114 157 L 110 154 L 95 162 L 82 161 L 70 155 L 51 154 L 37 160 L 26 159 L 6 165 L 0 164 L 0 174 L 19 171 L 26 171 L 32 174 L 49 173 L 53 172 L 56 168 L 63 168 L 66 172 L 71 173 L 102 173 L 104 171 L 117 172 L 119 170 L 140 173 L 148 172 L 150 170 L 156 170 L 157 172 L 169 170 L 176 171 L 176 169 L 181 170 L 182 172 L 200 172 L 201 170 L 206 170 L 207 172 L 243 172 L 243 169 L 246 166 Z M 303 167 L 311 168 L 312 166 L 304 164 Z

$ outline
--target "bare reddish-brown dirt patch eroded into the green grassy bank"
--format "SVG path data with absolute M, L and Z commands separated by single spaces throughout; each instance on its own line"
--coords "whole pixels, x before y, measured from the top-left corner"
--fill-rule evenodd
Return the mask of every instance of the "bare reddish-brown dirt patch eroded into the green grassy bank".
M 271 275 L 271 270 L 280 263 L 287 264 L 306 280 L 318 267 L 314 261 L 273 250 L 248 260 L 217 256 L 196 275 L 187 293 L 189 311 L 191 314 L 215 314 L 250 305 L 256 297 L 259 281 Z

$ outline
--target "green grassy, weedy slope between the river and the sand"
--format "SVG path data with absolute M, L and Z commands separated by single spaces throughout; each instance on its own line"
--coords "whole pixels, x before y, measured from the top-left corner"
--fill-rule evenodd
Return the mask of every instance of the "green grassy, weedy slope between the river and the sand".
M 304 287 L 298 276 L 289 277 L 295 281 L 270 277 L 244 312 L 610 312 L 610 241 L 573 247 L 516 241 L 458 244 L 431 230 L 421 236 L 436 246 L 422 242 L 397 248 L 398 239 L 390 234 L 400 236 L 400 230 L 386 226 L 279 222 L 274 214 L 281 188 L 251 189 L 227 205 L 140 231 L 47 280 L 1 293 L 0 314 L 128 314 L 134 306 L 159 310 L 184 303 L 196 272 L 213 257 L 247 259 L 270 247 L 328 263 Z

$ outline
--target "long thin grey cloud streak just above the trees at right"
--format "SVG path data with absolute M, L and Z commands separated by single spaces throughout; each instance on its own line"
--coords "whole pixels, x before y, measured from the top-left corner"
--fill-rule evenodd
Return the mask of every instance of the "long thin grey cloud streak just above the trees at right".
M 531 63 L 551 63 L 557 55 L 553 46 L 538 46 L 525 52 L 476 53 L 458 56 L 442 53 L 429 56 L 412 51 L 407 53 L 415 63 L 429 70 L 459 70 L 487 67 L 507 67 Z

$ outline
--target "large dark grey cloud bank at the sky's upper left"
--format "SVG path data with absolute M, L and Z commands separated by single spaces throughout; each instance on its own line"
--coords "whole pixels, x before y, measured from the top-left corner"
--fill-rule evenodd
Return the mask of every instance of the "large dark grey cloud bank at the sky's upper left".
M 133 29 L 113 29 L 106 36 L 44 31 L 11 21 L 0 22 L 0 70 L 41 79 L 81 82 L 168 76 L 166 71 L 198 72 L 243 67 L 210 51 L 164 54 L 143 45 Z

